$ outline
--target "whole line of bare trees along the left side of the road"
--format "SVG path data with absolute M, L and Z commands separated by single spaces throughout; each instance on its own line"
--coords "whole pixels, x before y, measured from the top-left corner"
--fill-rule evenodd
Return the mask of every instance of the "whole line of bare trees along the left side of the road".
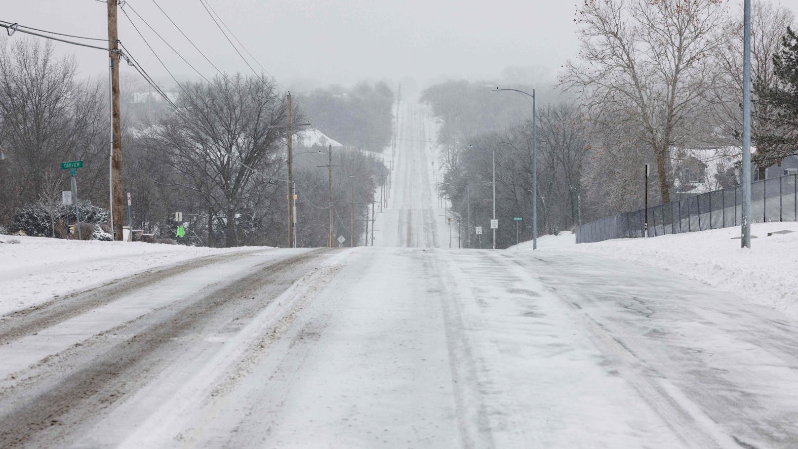
M 69 190 L 60 162 L 84 161 L 77 173 L 79 197 L 108 208 L 107 85 L 77 77 L 74 59 L 57 58 L 49 42 L 6 38 L 0 51 L 0 147 L 6 157 L 0 160 L 0 226 L 64 236 L 57 221 L 74 217 L 60 205 L 61 191 Z M 355 235 L 365 243 L 366 209 L 385 180 L 385 166 L 364 150 L 389 144 L 393 93 L 386 85 L 352 89 L 349 98 L 356 100 L 342 110 L 368 117 L 354 125 L 361 127 L 359 135 L 342 132 L 346 119 L 335 128 L 334 109 L 314 102 L 316 93 L 294 96 L 292 120 L 311 120 L 318 130 L 298 125 L 289 135 L 285 91 L 263 76 L 224 74 L 180 83 L 168 100 L 140 81 L 123 78 L 123 85 L 122 178 L 132 196 L 125 226 L 184 244 L 285 246 L 287 201 L 296 193 L 298 246 L 326 244 L 330 207 L 341 231 L 336 237 L 344 235 L 350 244 Z M 323 133 L 319 122 L 344 144 L 333 149 L 331 205 L 329 173 L 317 166 L 328 165 L 327 145 L 300 135 Z M 286 179 L 288 139 L 295 154 L 304 153 L 294 158 L 293 189 Z M 176 212 L 183 214 L 181 223 Z M 91 217 L 108 219 L 107 213 Z M 186 232 L 178 237 L 180 224 Z

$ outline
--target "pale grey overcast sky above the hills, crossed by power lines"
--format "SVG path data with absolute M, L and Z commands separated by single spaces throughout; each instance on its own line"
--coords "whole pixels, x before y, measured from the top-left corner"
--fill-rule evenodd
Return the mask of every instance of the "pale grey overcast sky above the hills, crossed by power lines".
M 199 75 L 141 18 L 204 76 L 212 77 L 215 69 L 168 22 L 156 2 L 221 70 L 251 73 L 199 0 L 128 0 L 124 10 L 180 81 Z M 532 67 L 554 79 L 559 66 L 577 50 L 574 0 L 207 2 L 266 70 L 292 89 L 350 85 L 363 79 L 393 82 L 413 77 L 428 85 L 449 77 L 496 78 L 510 66 Z M 105 2 L 3 3 L 0 20 L 92 38 L 108 36 Z M 796 3 L 783 2 L 793 10 L 798 9 Z M 121 11 L 119 29 L 120 41 L 141 66 L 164 85 L 172 85 Z M 67 44 L 58 44 L 57 50 L 74 54 L 82 74 L 107 73 L 108 60 L 100 50 Z M 132 73 L 132 68 L 123 67 L 123 72 Z

